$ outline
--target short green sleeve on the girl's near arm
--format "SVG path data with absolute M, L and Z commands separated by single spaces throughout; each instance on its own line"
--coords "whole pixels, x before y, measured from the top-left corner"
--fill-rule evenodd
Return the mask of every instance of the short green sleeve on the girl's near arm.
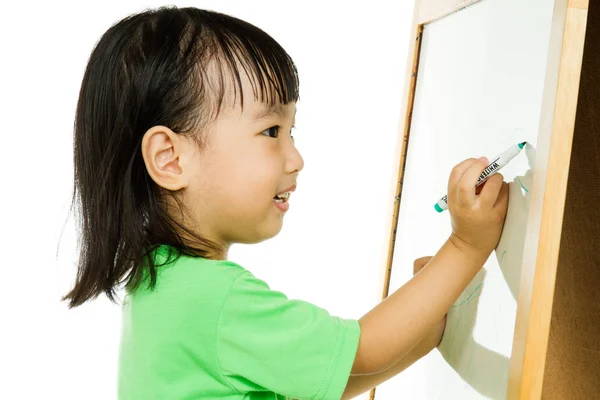
M 232 284 L 217 325 L 217 357 L 236 390 L 340 399 L 358 348 L 357 320 L 290 300 L 249 271 Z

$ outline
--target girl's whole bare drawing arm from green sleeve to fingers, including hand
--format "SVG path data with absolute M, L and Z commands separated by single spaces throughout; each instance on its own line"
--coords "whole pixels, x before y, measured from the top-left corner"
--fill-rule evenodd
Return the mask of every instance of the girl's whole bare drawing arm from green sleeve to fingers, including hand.
M 501 174 L 479 195 L 475 184 L 485 160 L 457 165 L 448 184 L 452 234 L 413 279 L 360 320 L 361 335 L 351 375 L 388 370 L 431 332 L 498 244 L 508 205 Z

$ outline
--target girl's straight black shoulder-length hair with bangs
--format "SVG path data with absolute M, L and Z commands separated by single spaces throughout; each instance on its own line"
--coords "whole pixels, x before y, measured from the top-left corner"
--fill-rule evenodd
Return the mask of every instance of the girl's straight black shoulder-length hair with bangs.
M 240 66 L 255 99 L 268 105 L 298 101 L 290 56 L 261 29 L 226 14 L 146 9 L 112 25 L 96 43 L 75 114 L 71 209 L 78 206 L 79 261 L 75 285 L 62 298 L 69 308 L 101 293 L 116 302 L 118 286 L 126 282 L 135 290 L 144 272 L 153 289 L 160 265 L 150 255 L 160 245 L 176 256 L 219 253 L 217 243 L 169 216 L 164 196 L 171 195 L 181 211 L 183 205 L 151 179 L 141 141 L 149 128 L 163 125 L 206 149 L 204 132 L 223 105 L 225 73 L 235 79 L 243 107 Z M 236 98 L 237 90 L 233 105 Z

